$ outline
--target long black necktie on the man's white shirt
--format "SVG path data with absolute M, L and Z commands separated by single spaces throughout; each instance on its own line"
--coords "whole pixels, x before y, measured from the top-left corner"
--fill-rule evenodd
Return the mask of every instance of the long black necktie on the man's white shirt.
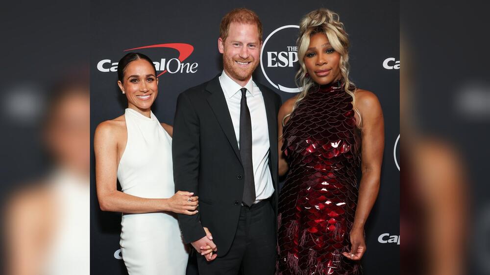
M 242 92 L 242 100 L 240 101 L 240 157 L 242 158 L 245 173 L 242 202 L 247 206 L 252 206 L 255 202 L 255 183 L 252 166 L 252 120 L 246 105 L 246 88 L 242 88 L 240 91 Z

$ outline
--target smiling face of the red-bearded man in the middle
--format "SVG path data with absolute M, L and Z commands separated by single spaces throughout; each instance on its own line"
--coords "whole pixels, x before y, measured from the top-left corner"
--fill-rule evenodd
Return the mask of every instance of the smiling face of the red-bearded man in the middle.
M 231 23 L 226 39 L 218 40 L 226 74 L 238 84 L 245 86 L 259 65 L 261 46 L 256 24 Z

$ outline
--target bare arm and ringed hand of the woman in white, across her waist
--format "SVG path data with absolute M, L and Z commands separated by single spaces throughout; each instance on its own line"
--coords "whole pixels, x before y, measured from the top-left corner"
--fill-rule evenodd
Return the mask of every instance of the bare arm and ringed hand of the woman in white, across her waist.
M 95 133 L 94 150 L 96 158 L 96 185 L 100 209 L 123 213 L 148 213 L 172 211 L 195 214 L 197 197 L 192 202 L 187 199 L 193 193 L 178 191 L 171 198 L 147 199 L 125 194 L 117 190 L 117 126 L 101 123 Z

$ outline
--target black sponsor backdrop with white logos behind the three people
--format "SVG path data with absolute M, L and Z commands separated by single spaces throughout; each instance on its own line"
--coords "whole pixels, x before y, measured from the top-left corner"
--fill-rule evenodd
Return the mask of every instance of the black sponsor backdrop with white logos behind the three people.
M 340 15 L 350 37 L 351 80 L 378 96 L 385 116 L 385 154 L 378 200 L 366 226 L 367 275 L 399 273 L 399 4 L 397 1 L 91 1 L 91 137 L 97 125 L 122 115 L 125 97 L 115 67 L 125 50 L 135 49 L 158 62 L 159 96 L 153 112 L 172 124 L 177 95 L 207 81 L 221 69 L 219 24 L 236 7 L 254 10 L 267 40 L 262 67 L 254 73 L 281 95 L 294 93 L 294 46 L 303 15 L 319 7 Z M 289 27 L 286 27 L 289 26 Z M 281 28 L 283 27 L 283 28 Z M 274 32 L 275 31 L 275 32 Z M 271 33 L 273 33 L 271 35 Z M 190 54 L 190 55 L 189 55 Z M 186 55 L 189 55 L 186 57 Z M 180 59 L 180 60 L 178 60 Z M 290 66 L 291 65 L 291 66 Z M 113 69 L 111 69 L 113 68 Z M 121 213 L 98 208 L 94 157 L 91 171 L 92 274 L 126 274 L 119 251 Z

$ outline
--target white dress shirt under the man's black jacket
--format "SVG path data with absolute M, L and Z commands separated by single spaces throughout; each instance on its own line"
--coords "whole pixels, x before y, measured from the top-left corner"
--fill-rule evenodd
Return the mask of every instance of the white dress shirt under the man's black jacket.
M 237 137 L 238 147 L 240 148 L 240 102 L 242 92 L 240 89 L 246 88 L 246 103 L 250 110 L 250 119 L 252 122 L 252 166 L 255 183 L 255 196 L 258 203 L 261 200 L 268 199 L 274 193 L 274 184 L 269 169 L 269 128 L 267 125 L 266 105 L 264 97 L 259 87 L 252 81 L 248 80 L 247 84 L 242 87 L 231 79 L 223 70 L 221 73 L 220 84 L 228 104 L 235 136 Z M 276 149 L 274 149 L 276 150 Z

